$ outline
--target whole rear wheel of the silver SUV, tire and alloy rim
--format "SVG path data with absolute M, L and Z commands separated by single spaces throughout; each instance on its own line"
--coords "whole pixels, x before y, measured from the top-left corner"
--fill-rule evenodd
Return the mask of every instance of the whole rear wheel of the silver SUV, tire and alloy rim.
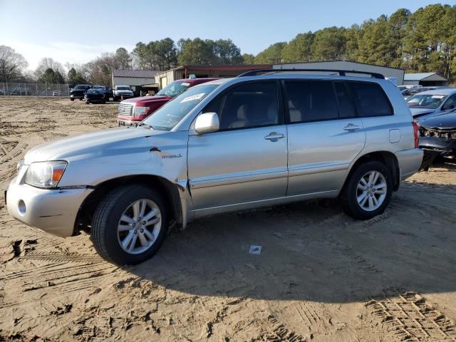
M 351 174 L 341 193 L 343 209 L 355 219 L 371 219 L 385 211 L 392 194 L 388 167 L 383 162 L 366 162 Z

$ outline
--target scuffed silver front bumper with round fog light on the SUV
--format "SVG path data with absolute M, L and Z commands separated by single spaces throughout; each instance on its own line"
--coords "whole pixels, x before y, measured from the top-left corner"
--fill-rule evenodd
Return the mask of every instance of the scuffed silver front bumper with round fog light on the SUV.
M 14 179 L 5 192 L 9 214 L 30 227 L 59 237 L 74 234 L 76 216 L 91 189 L 45 190 Z

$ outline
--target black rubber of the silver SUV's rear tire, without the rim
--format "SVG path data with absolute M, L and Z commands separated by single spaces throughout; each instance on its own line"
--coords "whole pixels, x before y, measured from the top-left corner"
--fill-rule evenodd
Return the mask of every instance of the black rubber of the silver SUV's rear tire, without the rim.
M 380 207 L 372 211 L 363 209 L 357 200 L 357 189 L 358 183 L 361 181 L 361 177 L 366 175 L 366 173 L 371 171 L 380 172 L 383 177 L 385 177 L 386 182 L 386 195 L 383 199 L 383 203 L 380 204 Z M 363 191 L 363 190 L 361 190 Z M 355 219 L 371 219 L 378 214 L 381 214 L 385 211 L 386 207 L 391 199 L 393 194 L 393 177 L 388 167 L 383 164 L 383 162 L 371 161 L 365 162 L 359 165 L 356 170 L 351 173 L 350 179 L 347 180 L 345 187 L 341 192 L 341 199 L 343 203 L 343 209 L 345 212 L 355 218 Z

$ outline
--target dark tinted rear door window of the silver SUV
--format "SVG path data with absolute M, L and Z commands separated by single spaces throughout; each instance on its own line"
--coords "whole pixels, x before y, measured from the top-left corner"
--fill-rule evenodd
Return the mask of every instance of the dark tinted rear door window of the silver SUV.
M 290 123 L 338 119 L 331 81 L 285 81 Z

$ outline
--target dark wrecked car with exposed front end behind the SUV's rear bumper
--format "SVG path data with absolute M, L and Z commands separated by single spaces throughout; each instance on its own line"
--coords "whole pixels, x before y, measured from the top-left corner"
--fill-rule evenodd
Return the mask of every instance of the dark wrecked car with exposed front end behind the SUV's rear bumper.
M 436 157 L 456 158 L 456 109 L 432 115 L 420 122 L 421 169 L 429 170 Z

